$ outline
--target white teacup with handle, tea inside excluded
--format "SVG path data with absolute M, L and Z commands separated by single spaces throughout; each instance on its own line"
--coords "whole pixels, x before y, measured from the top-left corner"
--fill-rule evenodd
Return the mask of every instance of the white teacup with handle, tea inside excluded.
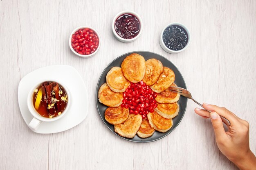
M 34 94 L 34 90 L 40 85 L 42 84 L 43 82 L 45 81 L 52 81 L 52 82 L 56 82 L 58 83 L 59 85 L 61 85 L 61 87 L 63 87 L 63 89 L 65 89 L 65 92 L 67 94 L 67 97 L 68 97 L 68 100 L 67 100 L 67 105 L 65 107 L 65 110 L 61 113 L 61 115 L 59 116 L 56 116 L 54 118 L 45 118 L 43 116 L 41 116 L 37 111 L 36 109 L 34 108 L 34 105 L 33 105 L 33 94 Z M 67 112 L 68 108 L 70 107 L 70 93 L 67 89 L 67 87 L 65 87 L 65 85 L 63 85 L 60 81 L 56 81 L 56 80 L 53 80 L 53 79 L 47 79 L 45 81 L 40 81 L 38 82 L 30 91 L 29 91 L 29 94 L 27 96 L 27 107 L 30 111 L 30 113 L 34 116 L 34 118 L 31 120 L 31 122 L 29 123 L 29 127 L 33 130 L 36 130 L 38 128 L 38 126 L 42 123 L 42 122 L 53 122 L 53 121 L 56 121 L 56 120 L 59 120 L 60 118 L 62 118 L 65 113 Z

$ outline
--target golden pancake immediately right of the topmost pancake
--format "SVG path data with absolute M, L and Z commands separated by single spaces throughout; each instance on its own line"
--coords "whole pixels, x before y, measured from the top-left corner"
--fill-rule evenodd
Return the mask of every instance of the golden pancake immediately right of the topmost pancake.
M 157 82 L 160 74 L 164 71 L 163 64 L 157 59 L 148 59 L 146 61 L 145 76 L 142 79 L 146 85 L 153 85 Z

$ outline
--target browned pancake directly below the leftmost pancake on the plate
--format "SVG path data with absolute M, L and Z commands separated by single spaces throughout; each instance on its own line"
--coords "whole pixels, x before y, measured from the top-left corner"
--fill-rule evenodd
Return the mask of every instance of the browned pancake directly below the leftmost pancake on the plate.
M 105 119 L 110 124 L 121 124 L 128 119 L 129 109 L 124 107 L 108 107 L 105 111 Z

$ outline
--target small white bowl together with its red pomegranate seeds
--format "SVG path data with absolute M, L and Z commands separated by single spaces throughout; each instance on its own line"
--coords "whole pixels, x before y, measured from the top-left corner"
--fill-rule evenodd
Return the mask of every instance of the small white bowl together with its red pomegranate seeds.
M 71 33 L 70 49 L 79 57 L 92 57 L 101 44 L 99 33 L 88 26 L 80 26 Z

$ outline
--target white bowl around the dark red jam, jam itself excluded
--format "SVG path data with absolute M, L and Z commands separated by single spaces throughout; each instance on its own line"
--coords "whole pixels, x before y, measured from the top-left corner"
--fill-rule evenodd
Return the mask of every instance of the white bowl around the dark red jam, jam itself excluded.
M 124 39 L 124 38 L 120 37 L 120 36 L 117 34 L 117 32 L 116 32 L 116 30 L 115 30 L 115 21 L 117 20 L 117 18 L 118 18 L 119 16 L 124 15 L 124 14 L 129 14 L 129 13 L 137 17 L 137 19 L 139 20 L 140 28 L 139 28 L 139 33 L 138 33 L 138 35 L 137 35 L 136 37 L 131 38 L 131 39 Z M 129 43 L 129 42 L 135 41 L 135 39 L 137 39 L 137 38 L 141 35 L 142 30 L 143 30 L 143 23 L 142 23 L 141 17 L 140 17 L 137 13 L 135 13 L 135 12 L 133 12 L 133 11 L 121 11 L 121 12 L 119 12 L 119 13 L 114 17 L 113 22 L 112 22 L 112 31 L 113 31 L 113 34 L 115 35 L 115 37 L 116 37 L 119 41 L 124 42 L 124 43 Z

